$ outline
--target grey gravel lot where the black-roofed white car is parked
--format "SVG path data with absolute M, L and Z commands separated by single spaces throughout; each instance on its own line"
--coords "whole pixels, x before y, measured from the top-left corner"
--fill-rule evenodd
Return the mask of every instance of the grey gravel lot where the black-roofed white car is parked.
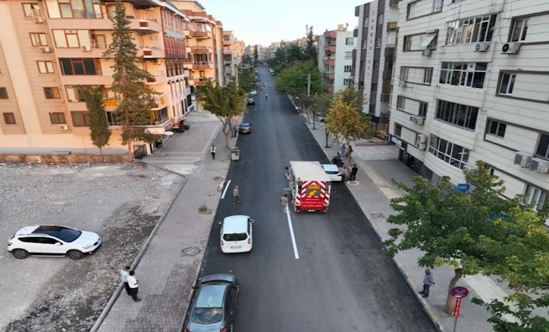
M 89 331 L 181 177 L 144 164 L 0 164 L 0 241 L 25 225 L 97 232 L 103 245 L 79 261 L 14 258 L 0 250 L 0 331 Z

